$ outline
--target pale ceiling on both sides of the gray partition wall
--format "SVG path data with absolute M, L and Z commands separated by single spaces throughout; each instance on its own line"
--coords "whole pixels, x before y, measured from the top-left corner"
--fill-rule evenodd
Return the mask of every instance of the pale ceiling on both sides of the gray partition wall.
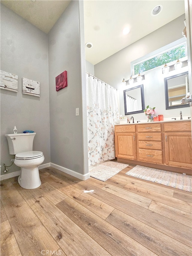
M 50 31 L 69 2 L 62 0 L 1 1 L 45 33 Z M 162 11 L 152 16 L 152 9 L 160 4 L 163 6 Z M 85 47 L 86 60 L 95 65 L 176 19 L 184 12 L 184 0 L 84 1 L 85 43 L 93 44 L 91 48 Z M 125 26 L 130 28 L 128 35 L 122 33 Z

